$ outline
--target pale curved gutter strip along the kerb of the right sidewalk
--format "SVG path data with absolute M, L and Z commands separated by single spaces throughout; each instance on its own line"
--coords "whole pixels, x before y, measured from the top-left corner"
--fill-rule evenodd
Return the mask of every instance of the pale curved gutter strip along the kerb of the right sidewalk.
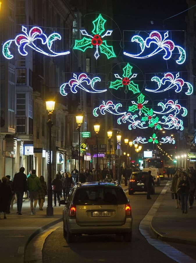
M 146 238 L 148 243 L 152 246 L 154 246 L 159 251 L 163 252 L 166 256 L 170 257 L 171 259 L 174 259 L 175 261 L 179 263 L 195 263 L 196 261 L 192 259 L 191 257 L 187 256 L 186 254 L 182 253 L 181 251 L 177 250 L 176 248 L 168 245 L 167 243 L 156 239 L 151 236 L 151 221 L 158 210 L 158 207 L 161 205 L 161 202 L 163 200 L 163 196 L 168 190 L 170 182 L 167 182 L 163 190 L 161 191 L 160 195 L 152 205 L 151 209 L 148 211 L 146 216 L 142 219 L 139 225 L 139 230 L 141 234 Z

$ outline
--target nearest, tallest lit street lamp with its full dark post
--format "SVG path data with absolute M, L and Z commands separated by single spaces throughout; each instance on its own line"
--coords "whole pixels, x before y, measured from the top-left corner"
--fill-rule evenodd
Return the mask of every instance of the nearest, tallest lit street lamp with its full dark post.
M 51 153 L 52 153 L 52 146 L 51 146 L 51 128 L 53 126 L 52 122 L 52 113 L 54 110 L 55 101 L 46 101 L 46 109 L 48 111 L 48 120 L 47 120 L 47 126 L 49 127 L 49 165 L 48 165 L 48 204 L 46 208 L 46 215 L 47 216 L 53 216 L 53 207 L 52 207 L 52 178 L 51 178 Z

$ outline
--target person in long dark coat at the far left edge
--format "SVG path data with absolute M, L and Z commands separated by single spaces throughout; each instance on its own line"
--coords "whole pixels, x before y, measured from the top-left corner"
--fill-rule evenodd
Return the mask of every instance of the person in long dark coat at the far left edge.
M 0 184 L 0 217 L 1 212 L 4 214 L 6 219 L 6 213 L 8 211 L 8 205 L 10 204 L 10 198 L 12 196 L 12 190 L 10 185 L 7 183 L 7 178 L 2 177 L 2 183 Z

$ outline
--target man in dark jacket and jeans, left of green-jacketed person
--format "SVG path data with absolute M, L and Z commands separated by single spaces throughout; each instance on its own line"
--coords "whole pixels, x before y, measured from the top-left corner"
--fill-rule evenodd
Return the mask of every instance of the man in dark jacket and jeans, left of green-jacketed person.
M 22 210 L 22 198 L 24 192 L 27 191 L 27 184 L 26 184 L 26 174 L 24 174 L 24 167 L 20 167 L 19 173 L 14 175 L 13 180 L 13 191 L 16 193 L 17 196 L 17 213 L 21 214 Z

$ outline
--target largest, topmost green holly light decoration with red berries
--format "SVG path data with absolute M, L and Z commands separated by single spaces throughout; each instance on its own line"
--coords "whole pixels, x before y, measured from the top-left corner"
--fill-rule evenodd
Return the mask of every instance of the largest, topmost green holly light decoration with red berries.
M 111 36 L 113 30 L 107 30 L 105 34 L 101 35 L 104 31 L 104 24 L 106 23 L 106 20 L 99 14 L 98 18 L 92 21 L 94 28 L 92 30 L 92 34 L 90 35 L 87 33 L 86 30 L 80 30 L 83 36 L 83 39 L 76 39 L 75 45 L 73 49 L 78 49 L 81 51 L 85 51 L 88 48 L 95 47 L 95 58 L 99 58 L 99 50 L 101 53 L 105 54 L 107 58 L 115 58 L 116 55 L 113 51 L 113 46 L 108 46 L 106 40 L 103 40 L 106 36 Z

